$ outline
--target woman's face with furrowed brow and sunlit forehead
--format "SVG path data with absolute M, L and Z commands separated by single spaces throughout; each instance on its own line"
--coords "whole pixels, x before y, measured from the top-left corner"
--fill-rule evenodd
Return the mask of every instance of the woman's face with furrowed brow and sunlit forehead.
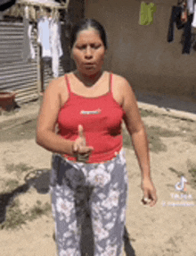
M 92 28 L 80 31 L 72 48 L 78 71 L 86 75 L 101 71 L 105 52 L 99 32 Z

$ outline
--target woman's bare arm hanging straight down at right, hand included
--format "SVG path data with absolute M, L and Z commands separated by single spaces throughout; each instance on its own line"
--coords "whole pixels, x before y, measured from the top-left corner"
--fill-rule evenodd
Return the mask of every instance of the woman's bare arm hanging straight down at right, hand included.
M 150 199 L 150 206 L 157 201 L 156 190 L 151 181 L 150 154 L 148 147 L 147 134 L 143 121 L 137 107 L 134 91 L 129 83 L 124 80 L 122 84 L 123 109 L 126 112 L 124 121 L 127 131 L 131 135 L 135 154 L 142 171 L 142 189 L 144 198 Z

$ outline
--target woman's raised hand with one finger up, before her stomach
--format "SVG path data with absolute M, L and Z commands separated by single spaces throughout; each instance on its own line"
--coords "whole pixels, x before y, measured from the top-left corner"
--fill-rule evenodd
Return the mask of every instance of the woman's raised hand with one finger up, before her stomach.
M 93 147 L 86 146 L 86 137 L 84 135 L 83 126 L 79 124 L 78 139 L 74 141 L 73 144 L 74 157 L 76 157 L 79 162 L 86 163 L 93 150 Z

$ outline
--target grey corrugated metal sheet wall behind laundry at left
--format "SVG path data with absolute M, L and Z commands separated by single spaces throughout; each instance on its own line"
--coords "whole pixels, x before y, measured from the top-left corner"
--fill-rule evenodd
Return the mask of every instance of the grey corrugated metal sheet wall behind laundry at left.
M 0 91 L 17 92 L 17 103 L 38 98 L 39 53 L 36 38 L 32 32 L 37 58 L 30 62 L 22 59 L 23 38 L 23 23 L 0 21 Z

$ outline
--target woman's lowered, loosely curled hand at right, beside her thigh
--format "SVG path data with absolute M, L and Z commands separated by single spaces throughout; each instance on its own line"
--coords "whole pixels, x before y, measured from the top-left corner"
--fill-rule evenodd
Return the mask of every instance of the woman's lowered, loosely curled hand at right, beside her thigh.
M 143 179 L 141 187 L 143 190 L 143 204 L 151 207 L 154 206 L 158 199 L 156 189 L 151 181 L 151 178 Z

